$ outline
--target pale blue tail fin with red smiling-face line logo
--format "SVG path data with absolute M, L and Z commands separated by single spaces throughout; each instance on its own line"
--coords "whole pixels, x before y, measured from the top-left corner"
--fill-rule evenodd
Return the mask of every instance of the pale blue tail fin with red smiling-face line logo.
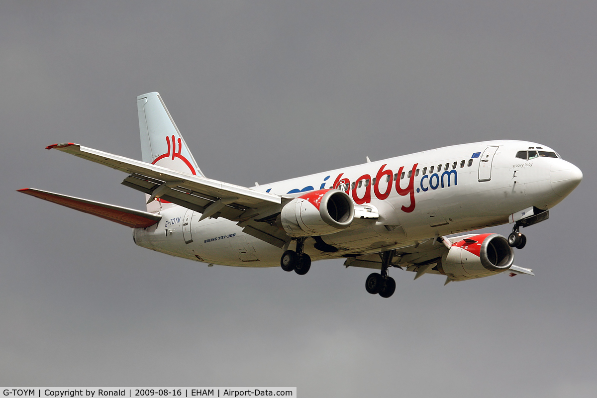
M 143 162 L 204 176 L 158 92 L 139 95 L 137 110 Z M 147 204 L 147 211 L 158 212 L 170 206 L 169 202 L 156 198 Z

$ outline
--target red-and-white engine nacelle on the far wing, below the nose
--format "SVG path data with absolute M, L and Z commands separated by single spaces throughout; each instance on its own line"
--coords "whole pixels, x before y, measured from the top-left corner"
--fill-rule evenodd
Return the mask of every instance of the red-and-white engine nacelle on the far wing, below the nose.
M 464 280 L 509 270 L 513 262 L 514 251 L 506 238 L 484 233 L 453 243 L 438 269 L 452 280 Z

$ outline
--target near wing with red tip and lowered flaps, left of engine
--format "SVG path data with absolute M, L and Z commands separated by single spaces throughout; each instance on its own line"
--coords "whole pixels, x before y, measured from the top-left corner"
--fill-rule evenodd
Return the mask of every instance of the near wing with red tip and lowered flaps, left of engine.
M 278 247 L 284 246 L 290 239 L 273 226 L 272 218 L 281 210 L 282 203 L 291 198 L 174 171 L 78 144 L 54 144 L 46 149 L 57 149 L 129 173 L 122 184 L 147 193 L 150 200 L 167 200 L 202 213 L 202 218 L 223 217 L 236 221 L 244 227 L 245 233 Z

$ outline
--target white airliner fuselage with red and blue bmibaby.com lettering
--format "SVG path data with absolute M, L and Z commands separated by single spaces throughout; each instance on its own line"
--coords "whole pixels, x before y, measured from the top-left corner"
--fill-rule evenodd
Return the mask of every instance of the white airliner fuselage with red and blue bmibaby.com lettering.
M 253 189 L 286 196 L 341 189 L 357 205 L 377 212 L 377 218 L 358 218 L 358 213 L 347 229 L 321 237 L 337 248 L 337 252 L 316 249 L 313 239 L 305 242 L 304 251 L 313 260 L 341 258 L 506 224 L 509 215 L 531 206 L 552 208 L 576 187 L 576 184 L 570 187 L 567 181 L 571 174 L 580 171 L 561 158 L 516 158 L 516 153 L 530 147 L 553 153 L 548 147 L 527 141 L 485 141 L 364 163 Z M 160 214 L 162 219 L 158 224 L 134 230 L 137 245 L 205 263 L 279 266 L 284 249 L 242 233 L 242 227 L 233 221 L 224 218 L 199 221 L 201 214 L 174 205 Z

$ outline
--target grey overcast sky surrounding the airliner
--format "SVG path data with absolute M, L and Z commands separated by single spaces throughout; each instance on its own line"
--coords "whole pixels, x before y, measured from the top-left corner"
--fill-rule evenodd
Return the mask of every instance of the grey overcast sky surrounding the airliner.
M 596 20 L 594 1 L 2 2 L 0 384 L 594 397 Z M 208 268 L 15 192 L 144 209 L 124 173 L 44 147 L 140 159 L 150 91 L 229 183 L 494 138 L 584 180 L 524 230 L 536 277 L 393 270 L 387 300 L 340 260 Z

